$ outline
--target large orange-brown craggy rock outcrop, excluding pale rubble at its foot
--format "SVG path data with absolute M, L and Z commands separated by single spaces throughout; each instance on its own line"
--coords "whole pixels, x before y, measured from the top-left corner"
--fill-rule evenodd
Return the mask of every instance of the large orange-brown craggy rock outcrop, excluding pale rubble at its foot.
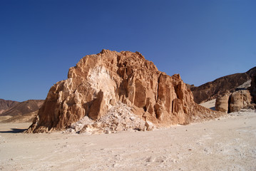
M 121 104 L 145 125 L 187 124 L 222 115 L 197 105 L 179 75 L 158 71 L 140 53 L 103 50 L 83 57 L 69 69 L 68 79 L 51 87 L 27 133 L 65 130 L 85 117 L 98 122 Z

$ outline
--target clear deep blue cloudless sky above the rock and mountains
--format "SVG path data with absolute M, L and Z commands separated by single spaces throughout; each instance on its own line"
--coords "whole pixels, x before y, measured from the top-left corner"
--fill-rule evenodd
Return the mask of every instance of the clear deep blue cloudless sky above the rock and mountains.
M 0 98 L 45 99 L 101 49 L 199 86 L 256 66 L 256 1 L 0 0 Z

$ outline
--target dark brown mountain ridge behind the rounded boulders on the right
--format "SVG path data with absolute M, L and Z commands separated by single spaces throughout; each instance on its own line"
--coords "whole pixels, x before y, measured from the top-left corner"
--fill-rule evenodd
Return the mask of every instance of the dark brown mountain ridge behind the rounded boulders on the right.
M 194 95 L 195 103 L 203 103 L 208 100 L 213 100 L 219 95 L 226 92 L 233 92 L 235 88 L 242 84 L 248 84 L 253 74 L 256 73 L 256 67 L 251 68 L 245 73 L 235 73 L 229 76 L 217 78 L 215 81 L 210 81 L 201 86 L 187 85 Z

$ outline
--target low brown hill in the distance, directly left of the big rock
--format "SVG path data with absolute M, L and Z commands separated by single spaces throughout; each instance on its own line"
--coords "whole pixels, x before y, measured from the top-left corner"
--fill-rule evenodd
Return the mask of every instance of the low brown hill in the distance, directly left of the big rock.
M 37 114 L 44 100 L 26 100 L 24 102 L 18 102 L 16 105 L 12 105 L 11 108 L 4 110 L 0 114 L 1 122 L 16 122 L 31 121 Z

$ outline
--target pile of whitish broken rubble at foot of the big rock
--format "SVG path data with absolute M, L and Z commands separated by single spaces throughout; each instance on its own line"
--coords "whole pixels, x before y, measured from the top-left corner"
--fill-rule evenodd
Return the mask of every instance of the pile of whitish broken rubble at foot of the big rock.
M 118 133 L 125 130 L 153 130 L 155 125 L 143 120 L 138 115 L 132 113 L 131 108 L 123 103 L 114 105 L 106 115 L 99 120 L 93 121 L 88 116 L 71 124 L 64 133 Z

